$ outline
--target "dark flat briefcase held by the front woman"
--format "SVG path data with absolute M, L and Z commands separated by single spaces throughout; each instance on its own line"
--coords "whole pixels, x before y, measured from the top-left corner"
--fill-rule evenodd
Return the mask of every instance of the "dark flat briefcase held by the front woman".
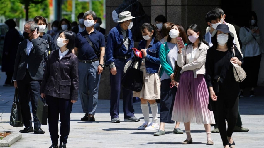
M 42 99 L 41 96 L 38 97 L 37 117 L 41 125 L 47 125 L 48 104 L 46 104 L 46 99 Z

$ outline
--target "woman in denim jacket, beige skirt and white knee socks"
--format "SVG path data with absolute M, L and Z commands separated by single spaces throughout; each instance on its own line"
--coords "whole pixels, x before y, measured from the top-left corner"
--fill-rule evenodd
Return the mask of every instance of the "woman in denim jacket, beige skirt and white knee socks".
M 160 99 L 160 80 L 158 71 L 160 68 L 160 37 L 157 28 L 144 23 L 141 26 L 141 32 L 144 40 L 139 42 L 138 50 L 141 50 L 143 58 L 140 59 L 140 70 L 143 72 L 143 87 L 140 92 L 133 92 L 133 97 L 141 99 L 141 110 L 145 122 L 138 127 L 138 130 L 158 130 L 158 105 L 157 99 Z M 137 59 L 137 57 L 135 57 Z M 152 122 L 149 122 L 149 108 L 152 112 Z

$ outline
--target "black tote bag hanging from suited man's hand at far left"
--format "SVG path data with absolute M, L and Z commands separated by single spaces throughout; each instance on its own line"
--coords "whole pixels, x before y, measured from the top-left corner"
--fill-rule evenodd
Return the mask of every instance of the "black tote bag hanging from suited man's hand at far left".
M 21 106 L 20 106 L 20 102 L 18 101 L 17 88 L 15 90 L 14 101 L 10 112 L 9 124 L 16 128 L 24 126 L 22 113 L 21 113 Z

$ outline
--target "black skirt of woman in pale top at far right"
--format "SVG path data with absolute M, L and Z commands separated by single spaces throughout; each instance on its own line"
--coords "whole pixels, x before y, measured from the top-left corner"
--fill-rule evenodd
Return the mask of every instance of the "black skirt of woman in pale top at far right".
M 258 73 L 260 68 L 261 55 L 244 57 L 242 68 L 245 70 L 247 77 L 240 83 L 240 88 L 255 88 L 258 83 Z

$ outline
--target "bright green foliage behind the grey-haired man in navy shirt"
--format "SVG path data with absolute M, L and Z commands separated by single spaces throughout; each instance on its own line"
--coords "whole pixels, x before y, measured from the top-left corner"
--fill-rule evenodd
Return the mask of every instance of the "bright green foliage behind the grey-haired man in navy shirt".
M 103 3 L 104 3 L 103 0 L 92 1 L 92 10 L 96 13 L 97 17 L 100 18 L 103 18 L 103 13 L 104 13 Z M 86 11 L 89 10 L 89 8 L 90 8 L 89 2 L 75 0 L 75 20 L 73 21 L 78 22 L 77 19 L 78 14 L 81 12 L 85 13 Z M 71 12 L 72 12 L 71 0 L 64 1 L 64 3 L 62 4 L 62 18 L 66 18 L 72 21 Z M 67 13 L 67 14 L 63 14 L 63 13 Z

